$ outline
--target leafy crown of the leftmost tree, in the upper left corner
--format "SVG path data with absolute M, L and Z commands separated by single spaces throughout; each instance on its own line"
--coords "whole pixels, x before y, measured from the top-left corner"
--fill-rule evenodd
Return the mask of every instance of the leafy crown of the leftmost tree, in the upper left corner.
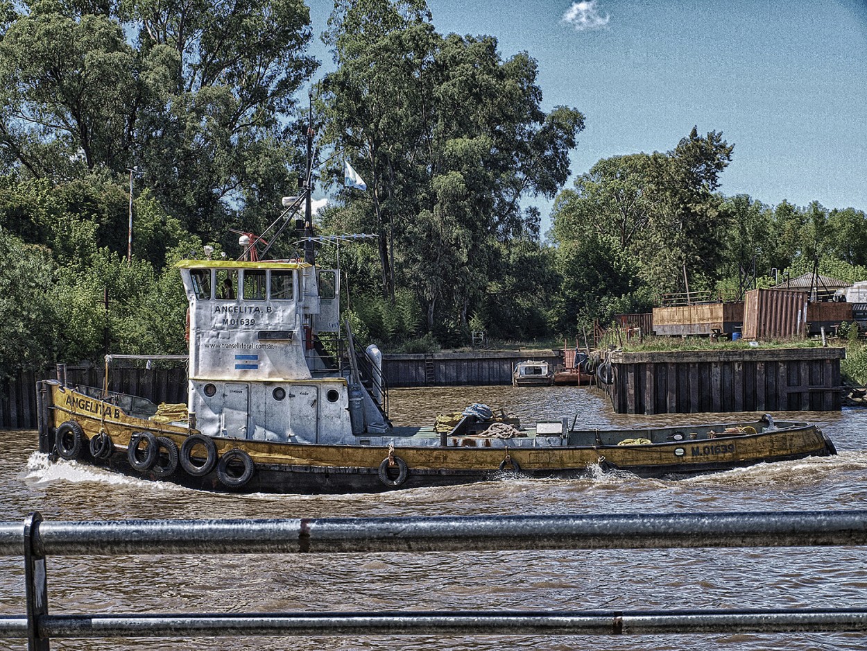
M 144 89 L 139 59 L 107 16 L 58 3 L 16 16 L 0 41 L 0 148 L 35 177 L 73 178 L 130 158 Z

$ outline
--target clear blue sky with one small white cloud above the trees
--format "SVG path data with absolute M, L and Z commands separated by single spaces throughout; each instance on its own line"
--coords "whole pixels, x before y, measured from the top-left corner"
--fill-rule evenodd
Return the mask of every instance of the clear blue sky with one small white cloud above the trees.
M 308 0 L 314 33 L 332 4 Z M 864 0 L 428 0 L 440 33 L 489 34 L 538 61 L 544 108 L 580 110 L 572 178 L 688 135 L 734 143 L 723 194 L 867 211 Z M 320 45 L 312 53 L 331 67 Z M 550 226 L 551 202 L 542 210 Z

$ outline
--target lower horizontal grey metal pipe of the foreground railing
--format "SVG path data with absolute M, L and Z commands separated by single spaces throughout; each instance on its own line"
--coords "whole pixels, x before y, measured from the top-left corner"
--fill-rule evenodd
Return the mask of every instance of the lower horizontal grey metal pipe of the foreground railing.
M 43 638 L 196 635 L 670 635 L 867 630 L 867 610 L 668 610 L 251 615 L 43 615 Z M 0 639 L 27 635 L 27 619 L 0 619 Z

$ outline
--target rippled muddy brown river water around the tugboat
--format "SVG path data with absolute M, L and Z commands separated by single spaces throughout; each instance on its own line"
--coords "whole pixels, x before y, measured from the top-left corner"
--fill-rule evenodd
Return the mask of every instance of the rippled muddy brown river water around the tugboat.
M 733 421 L 738 415 L 615 414 L 577 387 L 392 391 L 394 424 L 431 423 L 481 402 L 528 424 L 577 417 L 589 427 Z M 838 457 L 762 464 L 680 480 L 628 474 L 498 481 L 377 495 L 219 495 L 60 462 L 36 432 L 0 431 L 0 520 L 686 513 L 867 508 L 867 410 L 775 413 L 815 422 Z M 752 414 L 749 418 L 753 418 Z M 264 556 L 49 558 L 52 613 L 448 609 L 867 608 L 867 549 L 643 549 Z M 0 558 L 0 615 L 23 615 L 23 563 Z M 318 636 L 55 640 L 58 649 L 863 649 L 860 634 Z M 26 648 L 0 640 L 0 648 Z

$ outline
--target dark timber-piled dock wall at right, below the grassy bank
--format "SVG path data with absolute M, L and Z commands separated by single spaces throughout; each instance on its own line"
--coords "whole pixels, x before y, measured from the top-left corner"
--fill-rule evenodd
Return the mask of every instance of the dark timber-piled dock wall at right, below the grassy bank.
M 844 348 L 615 352 L 617 413 L 838 411 Z

